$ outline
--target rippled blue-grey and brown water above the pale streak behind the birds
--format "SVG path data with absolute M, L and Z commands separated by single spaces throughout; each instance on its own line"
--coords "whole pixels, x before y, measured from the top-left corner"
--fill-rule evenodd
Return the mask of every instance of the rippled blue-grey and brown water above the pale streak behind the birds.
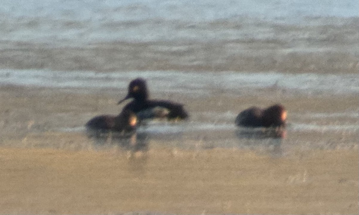
M 0 67 L 358 71 L 356 1 L 1 1 Z

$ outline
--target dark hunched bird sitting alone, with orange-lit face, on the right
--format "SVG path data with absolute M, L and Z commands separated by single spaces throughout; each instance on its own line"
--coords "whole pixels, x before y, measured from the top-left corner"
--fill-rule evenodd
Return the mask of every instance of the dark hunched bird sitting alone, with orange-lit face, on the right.
M 248 128 L 280 128 L 285 127 L 286 118 L 287 111 L 281 104 L 274 104 L 265 109 L 252 106 L 237 115 L 235 124 Z

